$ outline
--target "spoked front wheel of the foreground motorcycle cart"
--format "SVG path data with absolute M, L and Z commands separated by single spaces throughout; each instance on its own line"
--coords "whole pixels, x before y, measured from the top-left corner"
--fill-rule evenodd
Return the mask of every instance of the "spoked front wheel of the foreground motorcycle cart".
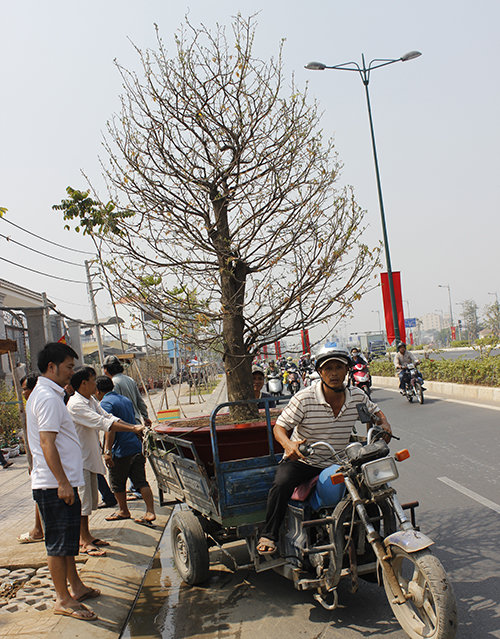
M 391 565 L 408 600 L 393 602 L 384 577 L 384 588 L 394 616 L 411 639 L 454 639 L 457 607 L 444 568 L 430 550 L 407 553 L 391 546 Z

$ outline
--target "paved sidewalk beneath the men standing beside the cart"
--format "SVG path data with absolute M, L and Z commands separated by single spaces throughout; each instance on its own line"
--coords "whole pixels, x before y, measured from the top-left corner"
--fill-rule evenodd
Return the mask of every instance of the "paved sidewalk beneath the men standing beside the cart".
M 159 406 L 160 398 L 161 393 L 152 397 L 155 408 Z M 173 389 L 169 389 L 168 399 L 169 406 L 173 407 Z M 226 401 L 225 378 L 203 402 L 200 403 L 197 397 L 192 401 L 192 404 L 184 404 L 188 397 L 181 396 L 182 408 L 188 417 L 210 414 L 218 403 Z M 0 589 L 5 583 L 7 587 L 14 581 L 23 583 L 17 595 L 0 607 L 0 637 L 118 637 L 172 511 L 171 507 L 158 506 L 158 490 L 151 467 L 147 465 L 148 481 L 155 494 L 157 519 L 154 528 L 134 522 L 134 517 L 144 511 L 142 500 L 129 502 L 131 519 L 106 521 L 112 508 L 99 509 L 90 518 L 92 533 L 111 545 L 106 547 L 106 557 L 77 557 L 83 581 L 102 591 L 99 598 L 86 602 L 99 619 L 85 622 L 52 614 L 53 590 L 52 582 L 47 579 L 45 545 L 19 544 L 17 541 L 20 534 L 33 526 L 34 502 L 26 456 L 15 457 L 13 461 L 13 466 L 0 470 Z M 12 574 L 14 570 L 19 572 Z M 39 572 L 34 574 L 36 570 Z

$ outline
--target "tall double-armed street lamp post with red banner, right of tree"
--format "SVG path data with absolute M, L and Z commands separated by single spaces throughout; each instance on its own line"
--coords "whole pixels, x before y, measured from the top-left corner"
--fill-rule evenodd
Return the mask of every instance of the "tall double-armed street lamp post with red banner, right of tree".
M 373 129 L 373 119 L 372 119 L 372 110 L 370 105 L 370 93 L 368 91 L 368 84 L 370 82 L 370 73 L 374 69 L 379 69 L 380 67 L 386 67 L 389 64 L 394 64 L 394 62 L 407 62 L 408 60 L 413 60 L 414 58 L 418 58 L 422 54 L 420 51 L 410 51 L 409 53 L 405 53 L 405 55 L 397 58 L 395 60 L 386 60 L 386 59 L 375 59 L 371 60 L 371 62 L 366 66 L 365 56 L 361 55 L 362 67 L 359 66 L 357 62 L 344 62 L 342 64 L 336 64 L 333 66 L 328 66 L 323 64 L 322 62 L 309 62 L 306 64 L 306 69 L 311 71 L 324 71 L 325 69 L 336 69 L 339 71 L 356 71 L 359 73 L 361 81 L 365 87 L 365 95 L 366 95 L 366 106 L 368 108 L 368 118 L 370 121 L 370 134 L 372 140 L 372 149 L 373 149 L 373 159 L 375 161 L 375 175 L 377 178 L 377 191 L 378 191 L 378 201 L 380 206 L 380 217 L 382 220 L 382 235 L 384 238 L 384 249 L 385 249 L 385 260 L 387 264 L 387 277 L 389 280 L 389 295 L 391 298 L 391 309 L 392 309 L 392 321 L 394 326 L 394 338 L 396 343 L 401 339 L 399 333 L 399 323 L 398 323 L 398 315 L 397 315 L 397 307 L 396 307 L 396 295 L 394 293 L 394 282 L 392 280 L 392 266 L 391 266 L 391 256 L 389 251 L 389 239 L 387 237 L 387 228 L 385 224 L 385 212 L 384 212 L 384 200 L 382 198 L 382 185 L 380 182 L 380 172 L 378 168 L 378 158 L 377 158 L 377 147 L 375 145 L 375 132 Z

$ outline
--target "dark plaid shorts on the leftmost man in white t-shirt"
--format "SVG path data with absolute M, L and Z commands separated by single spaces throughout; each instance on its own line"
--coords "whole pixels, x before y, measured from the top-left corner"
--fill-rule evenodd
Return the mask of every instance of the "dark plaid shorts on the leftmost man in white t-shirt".
M 57 496 L 57 488 L 36 488 L 33 499 L 38 505 L 45 528 L 45 547 L 49 557 L 75 557 L 80 548 L 81 502 L 75 488 L 75 501 L 68 506 Z

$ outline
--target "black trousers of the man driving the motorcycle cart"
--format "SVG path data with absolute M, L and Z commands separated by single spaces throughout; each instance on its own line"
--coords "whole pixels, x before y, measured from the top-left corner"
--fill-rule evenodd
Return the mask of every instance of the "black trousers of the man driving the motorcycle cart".
M 295 488 L 320 474 L 323 468 L 299 461 L 278 464 L 274 483 L 267 497 L 266 523 L 262 536 L 278 541 L 281 523 L 285 517 L 288 500 Z

